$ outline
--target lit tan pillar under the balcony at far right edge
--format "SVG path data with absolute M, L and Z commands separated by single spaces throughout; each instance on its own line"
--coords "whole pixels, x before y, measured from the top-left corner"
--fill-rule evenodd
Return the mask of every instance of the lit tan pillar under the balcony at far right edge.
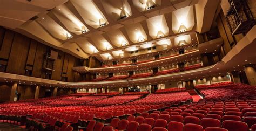
M 256 85 L 256 73 L 255 73 L 255 68 L 251 65 L 246 65 L 245 66 L 245 74 L 248 79 L 248 82 L 251 86 Z

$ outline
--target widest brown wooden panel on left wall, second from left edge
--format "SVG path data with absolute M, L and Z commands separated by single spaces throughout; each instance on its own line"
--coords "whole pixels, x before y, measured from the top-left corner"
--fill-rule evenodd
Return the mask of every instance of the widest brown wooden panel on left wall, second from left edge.
M 28 58 L 30 39 L 15 33 L 6 72 L 25 74 L 26 58 Z

